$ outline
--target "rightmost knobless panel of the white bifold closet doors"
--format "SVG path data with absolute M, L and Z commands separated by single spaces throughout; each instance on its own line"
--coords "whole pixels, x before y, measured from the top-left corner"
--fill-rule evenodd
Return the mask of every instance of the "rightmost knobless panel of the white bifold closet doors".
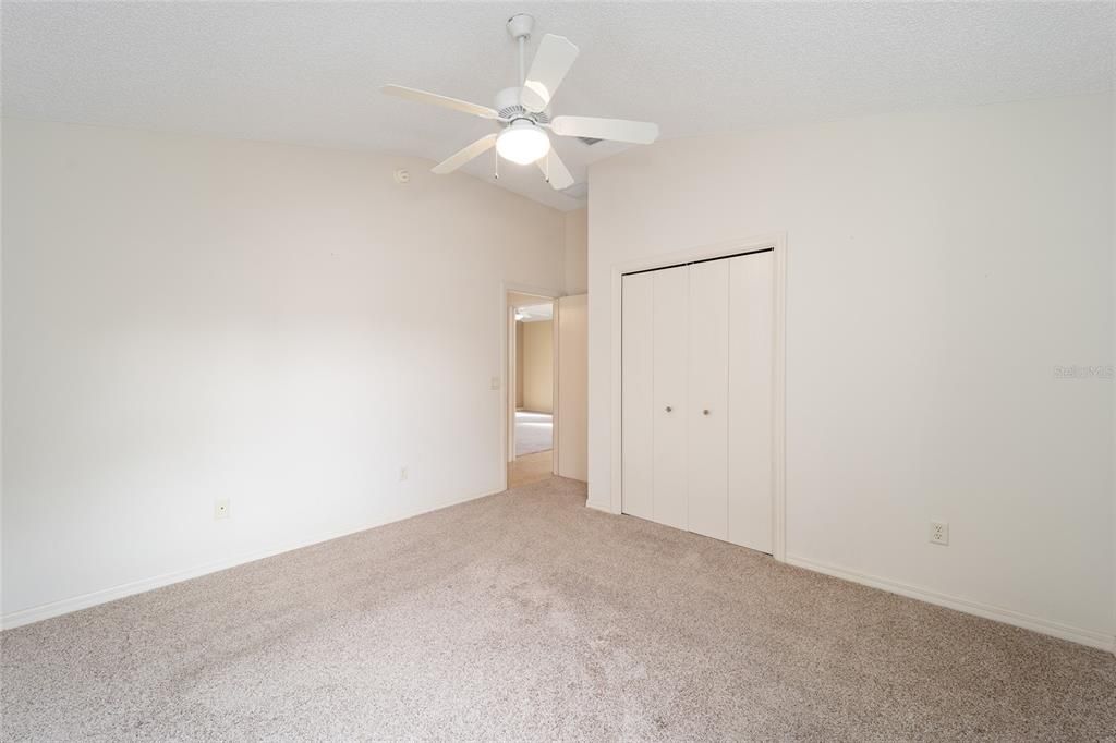
M 729 541 L 771 551 L 775 259 L 730 261 Z

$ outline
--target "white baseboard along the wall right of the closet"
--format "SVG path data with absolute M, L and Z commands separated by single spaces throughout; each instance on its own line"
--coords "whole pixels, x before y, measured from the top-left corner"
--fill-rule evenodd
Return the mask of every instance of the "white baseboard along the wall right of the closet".
M 855 570 L 848 570 L 846 568 L 827 565 L 825 562 L 817 562 L 815 560 L 796 557 L 793 554 L 787 556 L 787 563 L 799 568 L 806 568 L 807 570 L 814 570 L 815 572 L 821 572 L 827 576 L 833 576 L 834 578 L 849 580 L 854 583 L 878 588 L 889 594 L 898 594 L 899 596 L 918 599 L 920 601 L 926 601 L 927 604 L 944 606 L 947 609 L 964 611 L 965 614 L 972 614 L 978 617 L 984 617 L 985 619 L 1002 621 L 1014 627 L 1022 627 L 1023 629 L 1030 629 L 1043 635 L 1050 635 L 1051 637 L 1070 640 L 1071 643 L 1088 645 L 1089 647 L 1108 650 L 1109 653 L 1116 653 L 1116 636 L 1107 635 L 1105 633 L 1071 627 L 1057 621 L 1050 621 L 1049 619 L 1041 619 L 1039 617 L 1032 617 L 1019 611 L 1012 611 L 1011 609 L 1003 609 L 1001 607 L 990 606 L 979 601 L 970 601 L 969 599 L 946 596 L 925 588 L 918 588 L 917 586 L 908 586 L 907 583 L 888 580 L 887 578 L 867 576 L 856 572 Z

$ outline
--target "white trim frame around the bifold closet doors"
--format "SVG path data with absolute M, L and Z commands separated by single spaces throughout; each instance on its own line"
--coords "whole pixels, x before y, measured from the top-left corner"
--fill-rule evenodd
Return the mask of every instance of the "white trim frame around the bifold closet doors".
M 620 350 L 623 348 L 623 281 L 625 273 L 653 271 L 696 261 L 731 258 L 743 253 L 756 253 L 770 250 L 775 261 L 775 313 L 773 321 L 773 358 L 772 358 L 772 405 L 771 416 L 771 556 L 780 561 L 787 561 L 787 235 L 773 233 L 729 240 L 710 245 L 690 248 L 676 252 L 641 258 L 632 261 L 614 263 L 612 267 L 610 308 L 612 308 L 612 482 L 609 488 L 608 511 L 620 513 L 624 499 L 623 479 L 623 377 L 620 374 Z M 599 508 L 599 506 L 598 506 Z

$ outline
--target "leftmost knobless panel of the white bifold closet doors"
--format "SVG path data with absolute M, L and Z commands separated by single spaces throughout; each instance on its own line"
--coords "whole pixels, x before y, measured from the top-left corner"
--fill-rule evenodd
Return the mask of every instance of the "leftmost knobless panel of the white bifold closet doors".
M 624 513 L 652 518 L 653 383 L 651 313 L 653 276 L 637 273 L 623 279 L 620 298 L 620 452 Z

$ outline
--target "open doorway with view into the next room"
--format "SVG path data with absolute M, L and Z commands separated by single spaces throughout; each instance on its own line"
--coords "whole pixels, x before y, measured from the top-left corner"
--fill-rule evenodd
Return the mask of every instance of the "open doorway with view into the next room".
M 509 431 L 508 486 L 549 477 L 555 471 L 555 300 L 508 293 Z

